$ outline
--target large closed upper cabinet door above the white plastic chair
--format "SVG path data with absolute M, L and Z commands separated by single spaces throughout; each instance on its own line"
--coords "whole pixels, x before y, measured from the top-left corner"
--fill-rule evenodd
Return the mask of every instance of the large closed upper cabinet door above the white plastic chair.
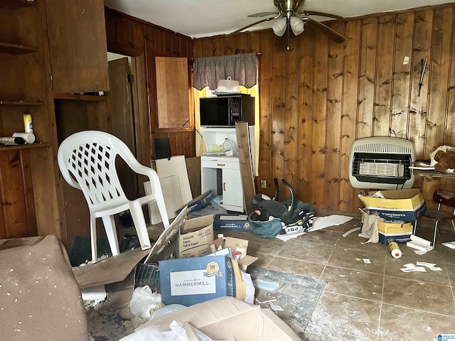
M 54 94 L 109 91 L 102 0 L 45 0 Z

